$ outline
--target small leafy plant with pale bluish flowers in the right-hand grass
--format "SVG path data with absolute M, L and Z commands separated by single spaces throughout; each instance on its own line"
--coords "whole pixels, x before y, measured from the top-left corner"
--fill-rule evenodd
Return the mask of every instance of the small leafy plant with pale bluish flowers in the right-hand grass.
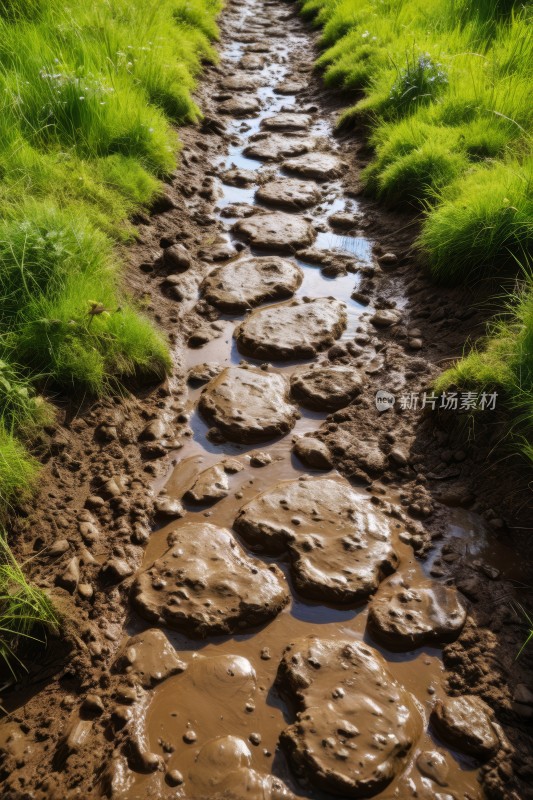
M 408 57 L 407 66 L 399 71 L 392 85 L 389 100 L 399 114 L 406 114 L 429 104 L 447 85 L 444 67 L 428 53 L 412 60 Z

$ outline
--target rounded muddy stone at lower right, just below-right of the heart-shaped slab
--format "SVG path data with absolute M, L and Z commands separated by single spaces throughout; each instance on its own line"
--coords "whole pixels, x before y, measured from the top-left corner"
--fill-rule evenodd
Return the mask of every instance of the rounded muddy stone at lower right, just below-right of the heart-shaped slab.
M 453 642 L 465 620 L 455 588 L 417 580 L 411 571 L 383 583 L 368 613 L 372 635 L 391 650 Z

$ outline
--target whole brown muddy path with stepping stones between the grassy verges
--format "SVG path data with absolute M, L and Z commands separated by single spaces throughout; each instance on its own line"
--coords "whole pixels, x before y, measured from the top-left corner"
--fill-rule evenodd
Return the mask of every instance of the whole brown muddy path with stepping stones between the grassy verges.
M 422 395 L 468 302 L 354 192 L 293 7 L 231 2 L 222 32 L 127 254 L 175 372 L 66 407 L 17 523 L 71 649 L 4 687 L 3 796 L 531 796 L 506 499 L 445 423 L 375 403 Z

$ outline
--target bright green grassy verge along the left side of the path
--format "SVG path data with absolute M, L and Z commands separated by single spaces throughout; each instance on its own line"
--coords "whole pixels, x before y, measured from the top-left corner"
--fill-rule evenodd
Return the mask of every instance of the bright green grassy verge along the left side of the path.
M 170 365 L 116 246 L 176 165 L 175 125 L 199 117 L 191 91 L 219 10 L 0 0 L 1 516 L 35 484 L 27 444 L 51 414 L 39 393 L 103 394 Z

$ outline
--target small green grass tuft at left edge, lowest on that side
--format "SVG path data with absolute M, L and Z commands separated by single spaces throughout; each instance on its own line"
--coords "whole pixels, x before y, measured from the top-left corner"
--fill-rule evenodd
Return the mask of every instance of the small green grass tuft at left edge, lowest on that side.
M 46 642 L 47 632 L 56 632 L 59 617 L 50 598 L 32 586 L 0 532 L 0 659 L 15 675 L 21 664 L 17 649 L 21 641 Z

